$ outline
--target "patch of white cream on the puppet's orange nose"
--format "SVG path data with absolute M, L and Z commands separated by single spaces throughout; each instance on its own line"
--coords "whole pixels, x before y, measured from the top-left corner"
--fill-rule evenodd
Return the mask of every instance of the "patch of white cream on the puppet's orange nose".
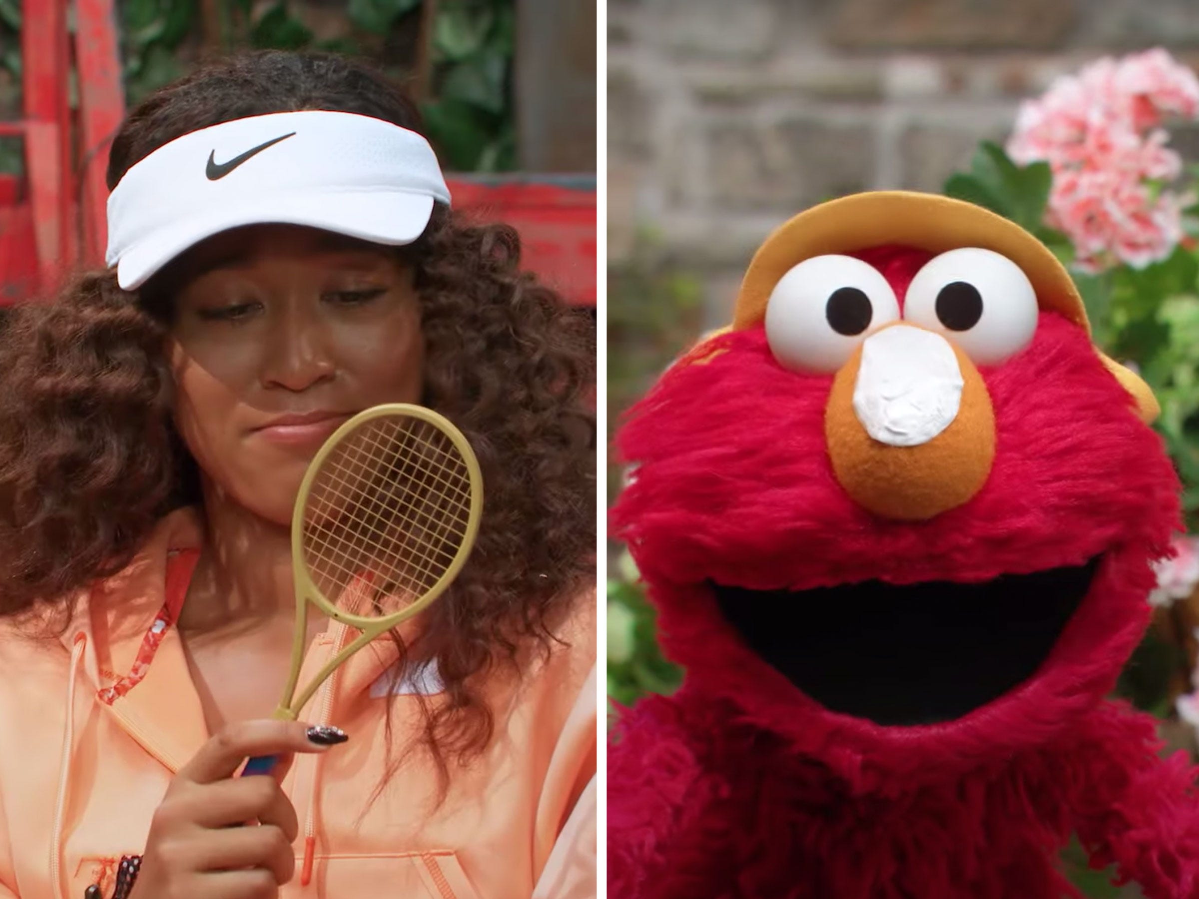
M 944 337 L 894 325 L 862 344 L 854 412 L 880 444 L 920 446 L 957 417 L 964 384 Z

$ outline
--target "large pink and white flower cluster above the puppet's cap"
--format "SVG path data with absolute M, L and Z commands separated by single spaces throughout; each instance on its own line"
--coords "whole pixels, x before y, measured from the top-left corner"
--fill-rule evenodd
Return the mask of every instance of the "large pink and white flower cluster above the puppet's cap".
M 1199 78 L 1162 49 L 1097 60 L 1022 104 L 1008 155 L 1049 163 L 1047 223 L 1080 269 L 1144 267 L 1182 239 L 1191 198 L 1158 189 L 1182 173 L 1158 127 L 1169 115 L 1199 117 Z

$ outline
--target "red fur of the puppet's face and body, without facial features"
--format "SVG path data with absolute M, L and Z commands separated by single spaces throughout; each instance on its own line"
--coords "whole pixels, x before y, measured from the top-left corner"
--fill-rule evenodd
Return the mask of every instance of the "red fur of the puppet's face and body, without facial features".
M 906 288 L 923 257 L 869 261 Z M 1199 806 L 1152 720 L 1103 702 L 1149 620 L 1149 562 L 1177 524 L 1158 438 L 1086 334 L 1043 313 L 1032 344 L 982 370 L 995 464 L 927 523 L 857 507 L 824 446 L 831 378 L 782 369 L 761 328 L 680 366 L 620 435 L 637 464 L 613 512 L 667 652 L 674 698 L 626 710 L 609 752 L 609 894 L 628 899 L 1073 895 L 1056 851 L 1077 831 L 1150 899 L 1199 897 Z M 752 653 L 706 581 L 803 590 L 978 581 L 1103 555 L 1037 674 L 938 725 L 830 712 Z

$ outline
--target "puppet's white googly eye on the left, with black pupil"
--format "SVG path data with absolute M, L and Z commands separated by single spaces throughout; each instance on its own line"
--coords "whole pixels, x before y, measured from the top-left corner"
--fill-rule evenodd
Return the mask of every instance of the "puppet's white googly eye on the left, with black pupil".
M 832 373 L 868 333 L 898 318 L 899 301 L 878 269 L 852 257 L 813 257 L 771 291 L 766 342 L 784 368 Z

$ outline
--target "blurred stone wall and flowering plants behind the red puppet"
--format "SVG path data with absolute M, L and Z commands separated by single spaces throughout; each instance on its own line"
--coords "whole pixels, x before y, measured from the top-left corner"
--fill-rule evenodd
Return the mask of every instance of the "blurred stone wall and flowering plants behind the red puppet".
M 610 427 L 728 324 L 783 221 L 863 189 L 947 193 L 1070 265 L 1096 340 L 1162 402 L 1156 427 L 1199 531 L 1199 5 L 611 0 L 608 46 Z M 620 482 L 610 461 L 613 494 Z M 1119 688 L 1192 753 L 1195 547 L 1180 538 L 1159 568 L 1153 628 Z M 631 704 L 681 672 L 628 556 L 609 554 L 608 692 Z M 1087 895 L 1132 895 L 1077 849 L 1067 863 Z

